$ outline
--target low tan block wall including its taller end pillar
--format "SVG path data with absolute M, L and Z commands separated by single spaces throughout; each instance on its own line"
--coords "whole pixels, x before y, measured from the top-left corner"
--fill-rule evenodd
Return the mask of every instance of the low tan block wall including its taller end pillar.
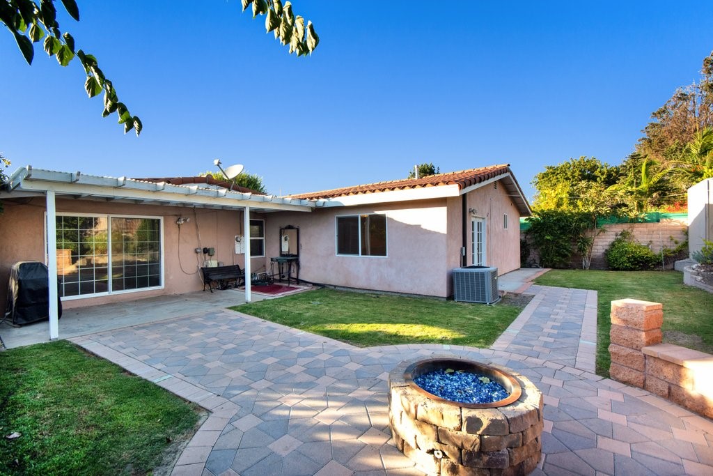
M 662 344 L 660 303 L 612 301 L 611 322 L 612 379 L 713 418 L 713 355 Z

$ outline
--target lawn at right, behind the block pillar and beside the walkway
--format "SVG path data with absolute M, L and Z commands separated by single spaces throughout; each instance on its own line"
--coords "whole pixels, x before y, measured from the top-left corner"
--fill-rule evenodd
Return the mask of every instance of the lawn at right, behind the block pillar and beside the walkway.
M 662 303 L 664 342 L 713 353 L 713 294 L 683 284 L 676 271 L 550 270 L 535 283 L 597 291 L 597 374 L 609 375 L 610 303 Z

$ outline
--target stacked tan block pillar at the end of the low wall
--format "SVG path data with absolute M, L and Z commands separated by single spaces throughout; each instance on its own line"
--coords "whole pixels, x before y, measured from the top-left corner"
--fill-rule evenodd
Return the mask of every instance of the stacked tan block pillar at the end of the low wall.
M 644 388 L 646 360 L 642 349 L 661 343 L 663 306 L 636 299 L 612 301 L 609 375 L 614 380 Z

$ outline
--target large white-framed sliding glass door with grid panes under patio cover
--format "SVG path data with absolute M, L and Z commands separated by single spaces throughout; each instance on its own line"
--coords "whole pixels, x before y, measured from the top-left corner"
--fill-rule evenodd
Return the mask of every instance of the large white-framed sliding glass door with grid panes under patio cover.
M 59 295 L 163 288 L 163 218 L 58 213 Z

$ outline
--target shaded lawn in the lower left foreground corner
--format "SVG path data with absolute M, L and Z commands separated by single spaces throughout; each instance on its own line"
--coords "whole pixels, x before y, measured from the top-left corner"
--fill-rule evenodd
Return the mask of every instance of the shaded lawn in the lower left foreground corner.
M 0 405 L 2 475 L 146 474 L 200 417 L 66 341 L 1 352 Z

